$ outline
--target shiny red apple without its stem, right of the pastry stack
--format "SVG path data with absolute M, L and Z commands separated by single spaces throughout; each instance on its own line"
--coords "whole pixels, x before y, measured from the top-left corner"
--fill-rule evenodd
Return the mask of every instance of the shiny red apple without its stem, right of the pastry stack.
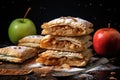
M 114 28 L 100 28 L 93 35 L 93 48 L 97 55 L 120 55 L 120 33 Z

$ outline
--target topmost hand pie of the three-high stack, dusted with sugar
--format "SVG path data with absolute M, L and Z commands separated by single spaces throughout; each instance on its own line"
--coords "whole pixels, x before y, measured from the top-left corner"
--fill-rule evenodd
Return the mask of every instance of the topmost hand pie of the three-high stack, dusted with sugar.
M 41 25 L 41 34 L 57 36 L 81 36 L 92 33 L 93 24 L 87 20 L 75 17 L 60 17 Z

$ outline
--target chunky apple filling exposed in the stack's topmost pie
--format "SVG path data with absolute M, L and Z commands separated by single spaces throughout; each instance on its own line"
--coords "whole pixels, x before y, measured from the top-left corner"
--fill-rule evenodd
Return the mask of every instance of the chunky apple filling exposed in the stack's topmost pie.
M 68 25 L 61 25 L 61 26 L 53 26 L 50 28 L 45 28 L 42 33 L 47 32 L 47 34 L 52 34 L 52 35 L 79 35 L 81 33 L 85 33 L 82 28 L 72 28 Z

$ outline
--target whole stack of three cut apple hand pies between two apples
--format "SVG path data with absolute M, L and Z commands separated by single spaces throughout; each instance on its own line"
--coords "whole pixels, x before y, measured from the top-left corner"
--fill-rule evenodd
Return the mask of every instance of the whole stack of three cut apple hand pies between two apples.
M 40 47 L 46 51 L 39 54 L 36 62 L 62 67 L 86 66 L 93 56 L 93 24 L 77 17 L 60 17 L 41 25 Z

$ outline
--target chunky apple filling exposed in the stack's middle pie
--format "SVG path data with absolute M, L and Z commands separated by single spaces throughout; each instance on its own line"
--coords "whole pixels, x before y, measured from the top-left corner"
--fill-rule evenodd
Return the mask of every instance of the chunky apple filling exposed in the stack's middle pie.
M 61 48 L 70 51 L 79 51 L 80 49 L 82 49 L 82 47 L 80 45 L 77 45 L 77 43 L 75 44 L 67 40 L 56 40 L 54 38 L 42 41 L 41 45 L 42 48 L 57 48 L 59 50 L 61 50 Z

